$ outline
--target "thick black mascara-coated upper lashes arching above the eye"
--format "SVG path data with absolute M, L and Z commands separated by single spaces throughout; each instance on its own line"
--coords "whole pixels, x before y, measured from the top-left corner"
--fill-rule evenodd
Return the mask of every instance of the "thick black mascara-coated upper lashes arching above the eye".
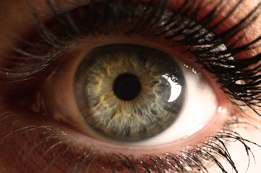
M 142 11 L 143 14 L 140 15 L 138 21 L 134 23 L 134 26 L 127 33 L 130 34 L 136 32 L 146 36 L 159 37 L 159 38 L 163 37 L 164 39 L 173 42 L 173 44 L 177 43 L 177 44 L 192 46 L 193 50 L 190 47 L 187 49 L 187 51 L 191 52 L 195 56 L 195 58 L 197 59 L 196 60 L 197 63 L 202 64 L 206 70 L 210 71 L 216 76 L 217 82 L 222 85 L 222 89 L 230 96 L 232 103 L 238 106 L 242 105 L 243 103 L 243 105 L 250 107 L 258 115 L 260 115 L 258 111 L 256 111 L 252 107 L 252 106 L 258 106 L 258 104 L 261 102 L 261 98 L 259 99 L 256 97 L 256 95 L 259 94 L 259 92 L 252 92 L 250 90 L 253 87 L 255 87 L 255 89 L 257 90 L 260 89 L 257 86 L 257 84 L 254 83 L 254 81 L 258 79 L 256 78 L 256 80 L 248 84 L 236 84 L 236 81 L 244 80 L 246 79 L 245 78 L 246 76 L 248 77 L 248 79 L 253 78 L 256 75 L 256 73 L 259 72 L 260 65 L 258 65 L 255 69 L 249 69 L 249 70 L 243 70 L 243 69 L 249 67 L 252 64 L 257 63 L 261 59 L 261 56 L 256 55 L 255 57 L 252 58 L 236 59 L 236 60 L 231 57 L 233 57 L 234 55 L 242 51 L 253 48 L 251 46 L 258 40 L 260 40 L 261 37 L 255 39 L 249 44 L 240 45 L 239 47 L 235 47 L 235 48 L 233 47 L 235 43 L 232 45 L 228 45 L 227 50 L 220 50 L 220 49 L 216 50 L 216 48 L 218 48 L 218 46 L 220 45 L 224 45 L 224 43 L 227 42 L 230 38 L 236 36 L 238 33 L 243 31 L 244 29 L 247 29 L 247 27 L 251 25 L 251 23 L 255 21 L 256 17 L 260 13 L 261 3 L 259 3 L 252 12 L 250 12 L 244 19 L 242 19 L 235 26 L 231 27 L 230 29 L 222 33 L 213 35 L 211 32 L 213 32 L 226 19 L 228 19 L 229 16 L 232 15 L 233 12 L 237 9 L 237 7 L 243 2 L 243 0 L 240 0 L 226 17 L 218 21 L 212 27 L 208 27 L 208 24 L 211 23 L 211 21 L 215 17 L 214 14 L 217 10 L 217 7 L 214 8 L 212 11 L 210 11 L 205 17 L 203 17 L 198 22 L 193 22 L 192 20 L 183 16 L 188 15 L 189 11 L 193 7 L 193 5 L 195 5 L 196 1 L 191 3 L 189 7 L 186 6 L 186 3 L 188 1 L 185 1 L 184 4 L 177 10 L 177 12 L 172 13 L 172 15 L 170 16 L 168 15 L 166 16 L 166 13 L 168 12 L 168 8 L 167 8 L 168 1 L 158 1 L 156 4 L 151 5 L 153 2 L 154 1 L 151 1 L 147 6 L 144 6 L 145 10 Z M 203 1 L 201 0 L 196 9 L 204 8 L 202 2 Z M 31 11 L 36 26 L 38 26 L 38 33 L 44 40 L 44 43 L 42 44 L 35 43 L 33 47 L 35 47 L 35 49 L 39 51 L 43 47 L 43 44 L 46 44 L 45 45 L 46 48 L 44 48 L 43 51 L 48 50 L 49 52 L 48 54 L 45 55 L 41 55 L 41 53 L 37 53 L 37 55 L 32 55 L 26 53 L 25 51 L 19 50 L 18 48 L 16 48 L 15 50 L 17 53 L 21 54 L 21 56 L 41 60 L 38 62 L 38 71 L 41 71 L 43 69 L 41 68 L 43 67 L 42 66 L 43 61 L 44 64 L 46 64 L 47 66 L 47 64 L 50 63 L 50 60 L 58 59 L 59 57 L 61 57 L 63 52 L 66 52 L 70 49 L 70 47 L 68 47 L 69 44 L 73 44 L 75 42 L 77 43 L 78 38 L 81 38 L 82 36 L 89 35 L 89 34 L 95 35 L 94 28 L 93 28 L 94 27 L 93 25 L 96 24 L 95 22 L 97 22 L 98 24 L 103 21 L 112 22 L 113 26 L 116 27 L 113 28 L 109 26 L 107 23 L 107 30 L 108 30 L 107 34 L 109 34 L 110 32 L 117 31 L 117 23 L 123 22 L 122 20 L 124 19 L 122 15 L 119 15 L 119 13 L 122 12 L 121 11 L 122 5 L 124 4 L 122 1 L 116 1 L 114 5 L 112 5 L 110 1 L 105 1 L 101 8 L 101 10 L 103 10 L 102 16 L 99 16 L 99 18 L 95 17 L 95 19 L 91 21 L 89 16 L 96 16 L 96 15 L 92 15 L 92 13 L 94 14 L 95 11 L 90 10 L 89 16 L 84 15 L 82 16 L 82 18 L 78 19 L 78 21 L 81 21 L 79 22 L 81 23 L 81 25 L 73 21 L 72 15 L 64 8 L 63 4 L 59 4 L 58 6 L 60 9 L 63 9 L 63 15 L 61 15 L 55 10 L 55 7 L 53 6 L 50 0 L 47 0 L 47 3 L 54 14 L 56 21 L 58 21 L 58 23 L 61 24 L 64 30 L 63 36 L 56 36 L 52 32 L 50 32 L 46 28 L 46 26 L 38 20 L 37 14 Z M 219 5 L 221 6 L 221 4 L 222 3 L 220 3 Z M 136 6 L 136 5 L 137 4 L 135 3 L 132 4 L 132 6 Z M 94 6 L 93 1 L 90 2 L 89 6 Z M 137 11 L 135 11 L 135 8 L 132 8 L 132 10 L 133 11 L 130 14 L 133 15 L 134 13 L 137 13 Z M 181 11 L 183 11 L 182 16 L 180 15 Z M 192 16 L 195 16 L 197 12 L 198 12 L 197 10 L 192 12 Z M 105 14 L 110 13 L 110 15 L 104 15 L 104 13 Z M 108 16 L 109 17 L 112 16 L 113 18 L 111 19 Z M 156 18 L 156 19 L 154 20 L 152 18 Z M 184 21 L 187 21 L 185 25 L 184 25 Z M 200 25 L 198 23 L 202 23 L 202 24 Z M 180 26 L 183 27 L 178 29 L 177 27 Z M 208 28 L 208 30 L 206 30 L 205 27 Z M 176 31 L 173 32 L 174 30 Z M 184 39 L 172 40 L 176 36 L 183 36 Z M 240 40 L 240 38 L 238 40 Z M 213 59 L 213 57 L 215 59 Z M 6 70 L 7 69 L 5 69 L 5 71 Z M 24 74 L 22 74 L 21 72 L 17 73 L 11 70 L 9 72 L 9 75 L 7 75 L 7 77 L 10 77 L 11 75 L 16 77 L 16 75 L 31 76 L 33 74 L 30 72 L 25 72 Z M 242 94 L 242 91 L 244 91 L 243 92 L 244 94 Z M 238 104 L 236 101 L 240 101 L 240 103 Z

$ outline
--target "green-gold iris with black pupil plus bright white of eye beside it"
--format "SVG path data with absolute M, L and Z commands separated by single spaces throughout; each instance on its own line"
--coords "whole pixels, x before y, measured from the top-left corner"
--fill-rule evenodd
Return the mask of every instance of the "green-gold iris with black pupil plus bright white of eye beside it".
M 93 48 L 73 81 L 84 128 L 107 142 L 170 143 L 202 130 L 220 113 L 213 87 L 194 68 L 143 45 Z

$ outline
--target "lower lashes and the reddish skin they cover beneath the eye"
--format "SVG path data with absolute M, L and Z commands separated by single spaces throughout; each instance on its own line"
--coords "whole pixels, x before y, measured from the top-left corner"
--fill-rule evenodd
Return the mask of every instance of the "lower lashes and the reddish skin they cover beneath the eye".
M 6 123 L 6 120 L 10 121 L 9 118 L 11 118 L 11 122 L 15 124 L 17 119 L 14 117 L 16 116 L 10 112 L 3 113 L 0 123 Z M 223 159 L 237 172 L 237 165 L 234 164 L 229 154 L 229 149 L 233 147 L 231 145 L 236 141 L 240 142 L 245 147 L 249 162 L 251 155 L 252 157 L 254 155 L 248 144 L 261 146 L 233 131 L 235 125 L 236 128 L 240 128 L 240 125 L 242 128 L 253 127 L 248 122 L 230 120 L 223 130 L 216 132 L 214 136 L 207 137 L 205 142 L 185 146 L 184 151 L 179 151 L 178 154 L 144 155 L 139 159 L 121 153 L 101 154 L 95 146 L 87 147 L 75 144 L 73 139 L 70 139 L 64 132 L 56 131 L 50 126 L 19 127 L 3 137 L 0 145 L 5 148 L 5 145 L 12 140 L 30 136 L 23 146 L 14 146 L 16 150 L 18 148 L 18 152 L 13 167 L 27 166 L 28 171 L 52 172 L 63 166 L 65 172 L 88 172 L 88 170 L 91 171 L 92 166 L 98 166 L 104 171 L 112 169 L 112 172 L 121 172 L 121 170 L 130 172 L 208 172 L 206 165 L 216 165 L 223 172 L 227 172 L 223 164 L 219 162 L 219 159 Z M 228 147 L 228 145 L 230 146 Z M 34 156 L 37 157 L 36 160 L 32 158 Z

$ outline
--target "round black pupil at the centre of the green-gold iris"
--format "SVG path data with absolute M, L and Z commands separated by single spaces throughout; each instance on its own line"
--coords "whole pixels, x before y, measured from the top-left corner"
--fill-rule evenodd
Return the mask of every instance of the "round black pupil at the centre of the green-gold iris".
M 138 78 L 131 74 L 119 75 L 113 86 L 115 94 L 124 101 L 134 99 L 140 91 Z

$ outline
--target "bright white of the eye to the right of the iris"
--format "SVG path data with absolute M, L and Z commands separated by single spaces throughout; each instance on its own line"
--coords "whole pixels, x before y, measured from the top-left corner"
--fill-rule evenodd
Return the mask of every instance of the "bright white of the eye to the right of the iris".
M 139 142 L 126 144 L 132 145 L 158 145 L 178 141 L 187 138 L 204 128 L 210 121 L 218 116 L 222 109 L 219 107 L 217 95 L 210 84 L 194 69 L 189 66 L 181 66 L 186 80 L 186 98 L 179 117 L 173 125 L 158 135 Z M 164 76 L 163 76 L 164 77 Z M 167 79 L 166 77 L 164 77 Z M 173 83 L 174 84 L 174 83 Z M 170 85 L 173 85 L 170 82 Z M 175 86 L 175 85 L 174 85 Z M 178 85 L 176 85 L 178 87 Z M 180 87 L 181 89 L 181 87 Z M 174 93 L 179 95 L 178 89 L 173 87 Z M 170 100 L 176 99 L 173 93 Z M 171 91 L 172 95 L 172 91 Z

